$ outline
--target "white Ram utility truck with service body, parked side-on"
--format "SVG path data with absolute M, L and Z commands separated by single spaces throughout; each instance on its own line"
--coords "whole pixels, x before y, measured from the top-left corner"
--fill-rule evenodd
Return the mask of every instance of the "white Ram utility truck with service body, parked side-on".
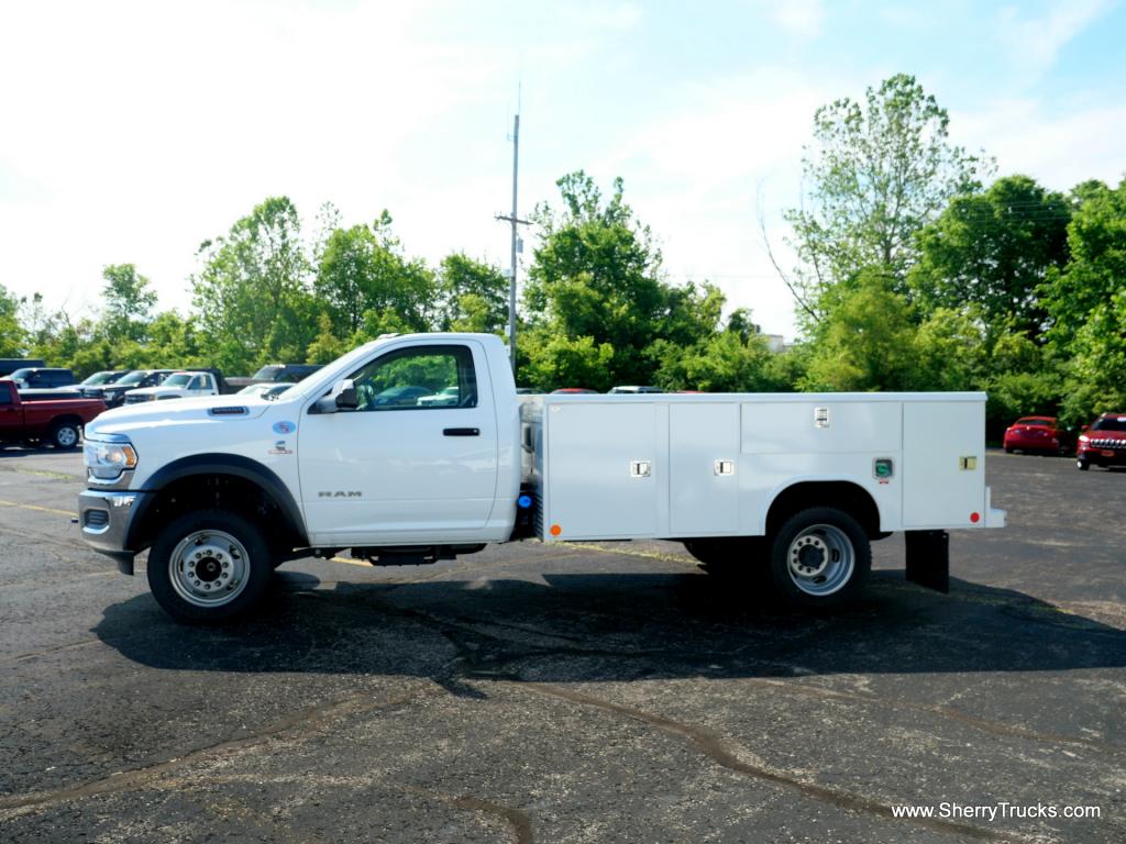
M 945 589 L 945 531 L 1003 526 L 984 422 L 980 393 L 517 396 L 493 335 L 390 336 L 277 401 L 104 413 L 79 521 L 123 573 L 148 549 L 185 622 L 245 611 L 286 560 L 414 565 L 524 537 L 674 539 L 831 607 L 872 540 L 906 531 L 908 576 Z

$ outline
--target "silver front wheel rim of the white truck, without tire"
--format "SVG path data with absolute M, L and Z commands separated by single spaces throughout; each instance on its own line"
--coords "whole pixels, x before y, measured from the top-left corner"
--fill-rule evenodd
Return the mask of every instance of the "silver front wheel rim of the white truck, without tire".
M 168 559 L 176 593 L 195 607 L 222 607 L 247 587 L 250 556 L 221 530 L 198 530 L 180 540 Z

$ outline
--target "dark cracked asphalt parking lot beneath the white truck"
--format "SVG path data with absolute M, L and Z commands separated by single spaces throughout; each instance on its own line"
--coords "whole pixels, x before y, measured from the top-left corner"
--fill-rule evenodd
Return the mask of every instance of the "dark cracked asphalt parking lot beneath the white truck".
M 0 451 L 0 841 L 1126 841 L 1126 472 L 988 473 L 949 595 L 899 538 L 830 617 L 524 542 L 206 630 L 81 542 L 78 454 Z

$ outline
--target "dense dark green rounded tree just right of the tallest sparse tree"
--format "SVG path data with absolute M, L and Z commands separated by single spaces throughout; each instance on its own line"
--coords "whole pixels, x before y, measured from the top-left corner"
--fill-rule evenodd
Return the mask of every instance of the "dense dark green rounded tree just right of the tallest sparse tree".
M 1027 176 L 955 197 L 918 234 L 912 298 L 924 313 L 976 306 L 991 335 L 1013 329 L 1039 336 L 1046 314 L 1037 291 L 1066 263 L 1070 218 L 1066 198 Z

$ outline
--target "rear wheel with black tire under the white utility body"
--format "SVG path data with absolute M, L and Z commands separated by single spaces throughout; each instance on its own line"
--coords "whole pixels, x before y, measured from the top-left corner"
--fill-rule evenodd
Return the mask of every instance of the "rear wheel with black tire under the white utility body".
M 852 515 L 811 508 L 790 517 L 770 545 L 775 587 L 813 609 L 854 600 L 872 571 L 872 545 Z

